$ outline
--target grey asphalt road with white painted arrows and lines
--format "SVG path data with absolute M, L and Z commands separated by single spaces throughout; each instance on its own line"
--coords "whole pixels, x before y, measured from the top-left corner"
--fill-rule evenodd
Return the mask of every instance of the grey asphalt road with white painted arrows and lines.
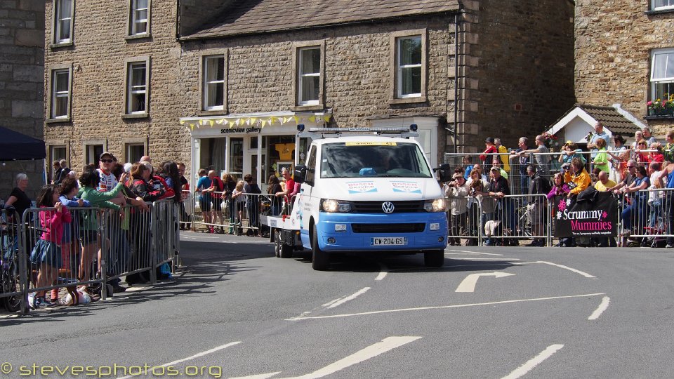
M 674 376 L 674 250 L 449 247 L 439 269 L 421 255 L 347 255 L 315 272 L 308 252 L 275 258 L 264 239 L 182 241 L 175 283 L 5 314 L 0 369 L 11 364 L 7 378 L 45 367 L 51 378 L 62 375 L 50 368 L 74 378 Z

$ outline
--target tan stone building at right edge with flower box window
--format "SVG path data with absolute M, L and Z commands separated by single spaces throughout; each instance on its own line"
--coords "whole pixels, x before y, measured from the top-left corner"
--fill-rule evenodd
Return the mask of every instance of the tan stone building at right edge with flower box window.
M 653 130 L 674 128 L 648 101 L 674 91 L 674 1 L 576 1 L 576 98 L 620 105 Z

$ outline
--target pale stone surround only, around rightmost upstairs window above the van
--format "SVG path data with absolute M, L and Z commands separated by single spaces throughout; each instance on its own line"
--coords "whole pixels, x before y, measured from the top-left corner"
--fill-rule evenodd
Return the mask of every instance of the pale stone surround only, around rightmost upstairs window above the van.
M 414 37 L 421 38 L 421 92 L 412 95 L 402 95 L 400 72 L 402 68 L 399 67 L 399 41 L 403 39 L 410 39 Z M 427 29 L 405 30 L 401 32 L 393 32 L 390 34 L 390 89 L 389 89 L 389 103 L 405 104 L 414 102 L 427 101 L 427 83 L 428 83 L 428 32 Z

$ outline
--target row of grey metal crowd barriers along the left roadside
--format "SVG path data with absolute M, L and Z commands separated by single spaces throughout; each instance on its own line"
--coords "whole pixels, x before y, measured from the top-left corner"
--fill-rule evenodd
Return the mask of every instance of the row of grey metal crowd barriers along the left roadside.
M 124 276 L 149 272 L 155 284 L 159 267 L 169 264 L 174 272 L 178 262 L 180 206 L 172 200 L 148 206 L 149 211 L 68 208 L 70 222 L 62 224 L 60 243 L 48 233 L 58 232 L 51 227 L 56 208 L 29 208 L 18 225 L 18 215 L 3 211 L 0 299 L 6 304 L 11 299 L 13 308 L 20 305 L 25 313 L 29 294 L 41 291 L 53 298 L 65 287 L 77 303 L 78 286 L 98 285 L 105 299 L 110 281 Z

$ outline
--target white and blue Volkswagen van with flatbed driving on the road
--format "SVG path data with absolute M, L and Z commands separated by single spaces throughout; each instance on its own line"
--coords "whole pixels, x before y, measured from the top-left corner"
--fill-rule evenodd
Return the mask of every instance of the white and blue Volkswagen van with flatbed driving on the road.
M 312 267 L 327 270 L 331 253 L 423 253 L 442 266 L 447 247 L 444 193 L 416 133 L 401 128 L 311 130 L 306 165 L 294 171 L 300 191 L 289 215 L 268 218 L 277 256 L 312 251 Z M 358 135 L 350 135 L 353 132 Z M 373 133 L 374 132 L 374 133 Z M 379 133 L 379 134 L 376 134 Z M 441 181 L 448 166 L 437 169 Z

